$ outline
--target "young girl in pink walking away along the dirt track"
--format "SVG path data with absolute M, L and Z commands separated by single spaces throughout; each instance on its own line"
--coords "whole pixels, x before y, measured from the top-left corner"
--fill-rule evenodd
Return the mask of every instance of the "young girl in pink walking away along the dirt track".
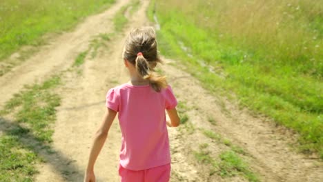
M 95 181 L 95 161 L 117 112 L 122 132 L 121 181 L 169 181 L 170 150 L 166 125 L 177 127 L 179 117 L 170 86 L 165 77 L 154 72 L 161 60 L 157 56 L 153 28 L 131 31 L 123 55 L 130 81 L 110 89 L 106 95 L 107 111 L 95 135 L 85 181 Z M 170 121 L 166 121 L 165 110 Z

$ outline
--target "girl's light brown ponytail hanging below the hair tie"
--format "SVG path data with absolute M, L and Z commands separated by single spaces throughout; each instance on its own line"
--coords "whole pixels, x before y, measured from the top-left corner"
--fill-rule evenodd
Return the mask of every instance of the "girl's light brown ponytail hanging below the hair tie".
M 141 52 L 137 54 L 137 59 L 135 62 L 137 72 L 141 75 L 141 77 L 149 81 L 149 85 L 156 92 L 160 92 L 162 88 L 167 88 L 166 77 L 156 74 Z

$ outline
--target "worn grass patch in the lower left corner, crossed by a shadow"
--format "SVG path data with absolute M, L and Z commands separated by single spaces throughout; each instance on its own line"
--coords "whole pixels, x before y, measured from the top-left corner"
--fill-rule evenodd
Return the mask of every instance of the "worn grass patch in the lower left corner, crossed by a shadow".
M 21 139 L 31 134 L 41 143 L 52 142 L 50 125 L 56 119 L 55 108 L 60 103 L 60 97 L 51 90 L 60 84 L 60 78 L 55 76 L 41 85 L 26 86 L 25 90 L 14 94 L 0 111 L 1 117 L 10 114 L 15 122 L 21 123 L 14 122 L 5 130 L 6 134 L 0 136 L 1 180 L 32 181 L 32 175 L 37 173 L 35 163 L 42 159 L 30 148 L 32 144 L 23 145 Z

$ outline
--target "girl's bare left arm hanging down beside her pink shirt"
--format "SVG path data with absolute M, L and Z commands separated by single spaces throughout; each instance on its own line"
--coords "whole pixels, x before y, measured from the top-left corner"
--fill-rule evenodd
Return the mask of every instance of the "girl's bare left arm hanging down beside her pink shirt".
M 86 168 L 86 181 L 95 181 L 94 177 L 94 165 L 95 161 L 97 160 L 97 156 L 99 155 L 104 142 L 106 141 L 106 137 L 108 136 L 108 131 L 110 130 L 110 126 L 112 121 L 115 119 L 117 112 L 111 110 L 110 108 L 107 109 L 106 114 L 104 114 L 104 119 L 95 133 L 95 139 L 92 144 L 90 157 L 88 159 L 88 167 Z M 92 176 L 92 177 L 91 177 Z M 90 178 L 91 180 L 87 180 Z

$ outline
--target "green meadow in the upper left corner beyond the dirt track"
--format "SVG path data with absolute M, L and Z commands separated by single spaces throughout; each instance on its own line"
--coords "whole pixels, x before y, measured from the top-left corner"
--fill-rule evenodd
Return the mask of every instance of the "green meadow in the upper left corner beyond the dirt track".
M 48 32 L 68 30 L 89 14 L 108 8 L 114 0 L 9 0 L 0 4 L 0 60 L 21 45 L 39 45 Z M 58 15 L 59 14 L 59 15 Z

